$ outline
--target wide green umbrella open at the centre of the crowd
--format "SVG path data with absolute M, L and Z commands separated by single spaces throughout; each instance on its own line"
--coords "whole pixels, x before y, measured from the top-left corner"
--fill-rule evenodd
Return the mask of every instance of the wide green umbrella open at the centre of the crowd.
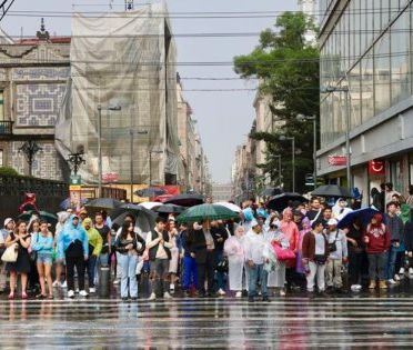
M 229 220 L 238 217 L 238 213 L 218 204 L 200 204 L 188 208 L 177 219 L 179 222 L 197 222 L 202 220 Z

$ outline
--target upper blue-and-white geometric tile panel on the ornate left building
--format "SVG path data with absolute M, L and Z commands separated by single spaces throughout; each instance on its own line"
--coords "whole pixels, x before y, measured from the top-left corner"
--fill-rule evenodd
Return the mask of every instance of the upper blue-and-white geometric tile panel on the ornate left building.
M 16 87 L 17 127 L 54 126 L 64 90 L 64 83 L 19 83 Z

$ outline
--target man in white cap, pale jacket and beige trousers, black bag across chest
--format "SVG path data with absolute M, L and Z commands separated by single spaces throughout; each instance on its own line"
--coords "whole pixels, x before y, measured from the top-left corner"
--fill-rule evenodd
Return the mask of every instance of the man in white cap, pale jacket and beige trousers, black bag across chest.
M 338 220 L 328 221 L 326 238 L 329 241 L 329 259 L 325 267 L 328 289 L 335 288 L 341 291 L 343 280 L 341 269 L 343 263 L 347 262 L 347 239 L 342 230 L 338 229 Z

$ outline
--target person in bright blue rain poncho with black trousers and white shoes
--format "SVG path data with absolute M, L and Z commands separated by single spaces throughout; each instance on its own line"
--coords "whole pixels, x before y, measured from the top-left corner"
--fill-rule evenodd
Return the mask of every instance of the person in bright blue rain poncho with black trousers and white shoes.
M 89 258 L 88 232 L 79 222 L 79 217 L 72 214 L 68 220 L 58 241 L 58 259 L 66 259 L 66 277 L 68 297 L 74 297 L 74 267 L 78 272 L 80 296 L 88 297 L 84 290 L 84 263 Z

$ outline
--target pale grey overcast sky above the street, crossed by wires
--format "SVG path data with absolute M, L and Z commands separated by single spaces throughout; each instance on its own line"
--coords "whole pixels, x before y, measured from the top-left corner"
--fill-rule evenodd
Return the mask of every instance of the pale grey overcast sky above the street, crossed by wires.
M 42 11 L 102 11 L 109 3 L 122 10 L 122 0 L 16 0 L 10 11 L 36 11 L 33 17 L 7 16 L 1 28 L 11 36 L 36 34 Z M 140 1 L 143 2 L 143 1 Z M 150 1 L 144 1 L 150 2 Z M 153 1 L 154 2 L 154 1 Z M 173 12 L 251 12 L 298 10 L 296 0 L 168 0 Z M 138 1 L 134 1 L 138 7 Z M 11 12 L 10 14 L 13 14 Z M 38 16 L 39 14 L 39 16 Z M 58 36 L 70 34 L 70 18 L 51 18 L 43 13 L 46 28 Z M 253 19 L 171 19 L 173 33 L 260 32 L 272 27 L 275 18 Z M 258 37 L 175 38 L 179 62 L 232 61 L 234 56 L 248 54 L 258 43 Z M 233 67 L 178 67 L 183 78 L 236 78 Z M 183 80 L 184 89 L 250 89 L 253 82 L 243 80 Z M 187 91 L 187 101 L 210 162 L 215 182 L 230 182 L 231 166 L 236 146 L 246 140 L 254 119 L 255 91 Z

